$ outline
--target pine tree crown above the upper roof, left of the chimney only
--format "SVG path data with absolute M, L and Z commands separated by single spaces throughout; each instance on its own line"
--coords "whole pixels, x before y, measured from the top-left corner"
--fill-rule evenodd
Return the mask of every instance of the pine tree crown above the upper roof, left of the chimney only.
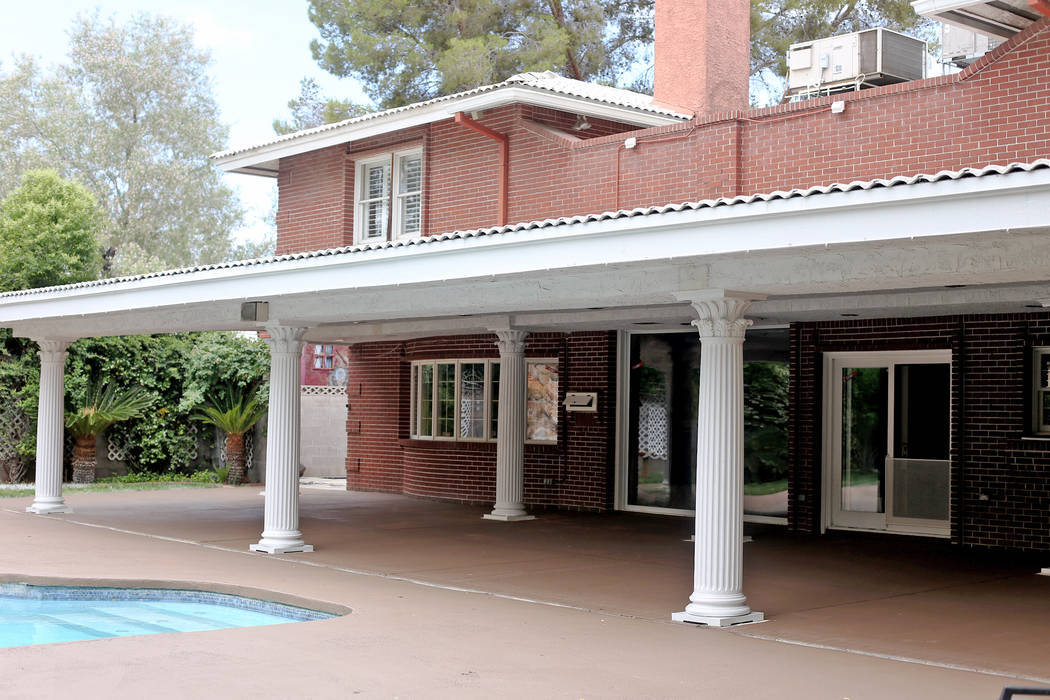
M 614 83 L 652 42 L 652 0 L 310 0 L 314 59 L 380 108 L 556 70 Z

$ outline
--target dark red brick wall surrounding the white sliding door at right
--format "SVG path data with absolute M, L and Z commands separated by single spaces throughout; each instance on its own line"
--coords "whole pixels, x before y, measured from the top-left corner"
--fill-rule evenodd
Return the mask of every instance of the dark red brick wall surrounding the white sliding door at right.
M 1050 442 L 1022 440 L 1038 345 L 1050 345 L 1048 314 L 793 324 L 791 527 L 820 527 L 822 354 L 949 348 L 952 542 L 1050 550 Z

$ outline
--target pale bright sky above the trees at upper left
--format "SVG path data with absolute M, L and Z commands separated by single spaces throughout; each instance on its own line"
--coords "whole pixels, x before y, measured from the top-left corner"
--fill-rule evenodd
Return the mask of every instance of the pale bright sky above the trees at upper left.
M 323 94 L 364 101 L 359 86 L 321 70 L 310 56 L 318 38 L 307 17 L 307 0 L 30 0 L 5 3 L 0 22 L 0 68 L 12 56 L 28 54 L 44 65 L 66 60 L 67 31 L 78 14 L 96 9 L 118 22 L 136 13 L 165 15 L 195 29 L 201 48 L 211 52 L 214 94 L 223 121 L 230 127 L 228 146 L 274 136 L 272 122 L 288 118 L 288 101 L 299 93 L 299 81 L 314 78 Z M 238 240 L 257 240 L 269 229 L 276 181 L 253 175 L 224 175 L 240 193 L 248 211 Z

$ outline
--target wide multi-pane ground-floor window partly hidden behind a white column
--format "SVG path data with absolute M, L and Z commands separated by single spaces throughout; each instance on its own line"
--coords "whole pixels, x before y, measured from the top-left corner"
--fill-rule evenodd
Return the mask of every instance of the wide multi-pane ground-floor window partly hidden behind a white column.
M 525 440 L 558 442 L 558 361 L 526 360 Z M 426 360 L 412 365 L 411 434 L 494 441 L 500 416 L 499 360 Z

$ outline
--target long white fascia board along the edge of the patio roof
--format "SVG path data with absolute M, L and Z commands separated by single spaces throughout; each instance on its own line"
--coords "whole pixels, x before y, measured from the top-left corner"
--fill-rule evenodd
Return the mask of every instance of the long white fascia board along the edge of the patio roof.
M 0 299 L 0 325 L 613 264 L 701 262 L 757 251 L 1050 230 L 1048 205 L 1050 170 L 799 196 L 16 296 Z

